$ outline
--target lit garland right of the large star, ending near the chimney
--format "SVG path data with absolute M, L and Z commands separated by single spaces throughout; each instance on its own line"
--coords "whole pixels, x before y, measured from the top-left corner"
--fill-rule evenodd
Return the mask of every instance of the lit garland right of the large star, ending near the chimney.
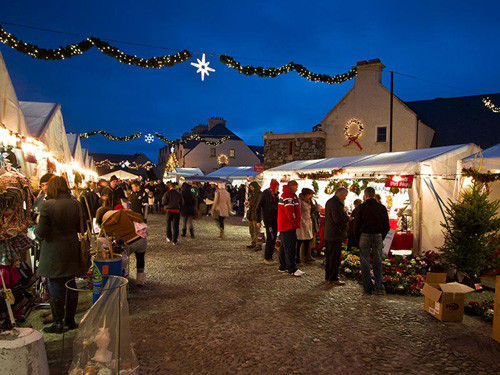
M 236 61 L 233 57 L 227 55 L 221 55 L 219 60 L 224 65 L 230 68 L 236 69 L 238 72 L 245 74 L 247 76 L 256 75 L 259 77 L 277 77 L 280 74 L 290 73 L 295 70 L 301 77 L 307 78 L 309 81 L 323 82 L 328 84 L 342 83 L 353 79 L 356 76 L 356 69 L 352 68 L 347 73 L 338 74 L 335 76 L 330 76 L 327 74 L 316 74 L 310 72 L 305 66 L 300 64 L 295 64 L 290 62 L 286 65 L 280 66 L 279 68 L 263 68 L 261 66 L 242 66 L 241 63 Z

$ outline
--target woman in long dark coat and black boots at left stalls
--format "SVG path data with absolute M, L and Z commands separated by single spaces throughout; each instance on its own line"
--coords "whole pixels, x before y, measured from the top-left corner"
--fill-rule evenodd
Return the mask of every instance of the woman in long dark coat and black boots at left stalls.
M 83 274 L 80 262 L 78 233 L 82 231 L 80 203 L 71 197 L 66 180 L 53 176 L 48 182 L 47 200 L 40 206 L 39 221 L 35 229 L 41 240 L 38 276 L 47 278 L 53 324 L 44 329 L 47 333 L 62 333 L 66 282 L 76 288 L 74 278 Z M 77 328 L 75 313 L 78 293 L 68 290 L 66 327 Z

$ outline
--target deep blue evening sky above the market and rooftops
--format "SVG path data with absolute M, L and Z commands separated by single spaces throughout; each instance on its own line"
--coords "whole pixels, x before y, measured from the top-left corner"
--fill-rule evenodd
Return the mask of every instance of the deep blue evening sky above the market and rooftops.
M 499 11 L 497 1 L 4 0 L 0 22 L 228 54 L 244 65 L 294 61 L 326 74 L 380 58 L 386 70 L 423 79 L 395 76 L 395 93 L 419 100 L 500 91 Z M 3 26 L 46 48 L 81 40 Z M 141 57 L 173 53 L 112 44 Z M 63 61 L 35 60 L 3 44 L 0 52 L 19 99 L 61 103 L 68 132 L 142 131 L 177 138 L 210 116 L 222 116 L 248 144 L 262 145 L 265 131 L 309 131 L 353 83 L 314 83 L 295 72 L 247 77 L 216 56 L 207 56 L 216 71 L 202 82 L 189 64 L 193 60 L 148 70 L 121 64 L 96 49 Z M 388 86 L 389 74 L 383 79 Z M 162 145 L 159 139 L 149 145 L 143 139 L 124 143 L 100 135 L 83 141 L 91 152 L 144 152 L 153 161 Z

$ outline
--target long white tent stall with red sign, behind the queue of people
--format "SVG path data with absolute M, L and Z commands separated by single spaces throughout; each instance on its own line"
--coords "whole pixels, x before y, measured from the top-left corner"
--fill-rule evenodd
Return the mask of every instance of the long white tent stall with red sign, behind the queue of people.
M 265 171 L 264 188 L 272 178 L 283 183 L 295 179 L 299 190 L 313 188 L 324 206 L 338 187 L 345 186 L 350 191 L 346 208 L 352 211 L 354 200 L 372 186 L 389 209 L 393 228 L 405 234 L 395 245 L 412 242 L 416 252 L 434 250 L 442 243 L 440 223 L 445 220 L 444 203 L 453 198 L 457 162 L 476 150 L 474 144 L 466 144 L 298 161 Z

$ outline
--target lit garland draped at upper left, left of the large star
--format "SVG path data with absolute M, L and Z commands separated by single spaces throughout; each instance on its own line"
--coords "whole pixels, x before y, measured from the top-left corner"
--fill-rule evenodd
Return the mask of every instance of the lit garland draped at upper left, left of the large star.
M 174 55 L 164 55 L 159 57 L 151 57 L 149 59 L 143 59 L 135 55 L 128 55 L 120 51 L 118 48 L 111 46 L 109 43 L 93 36 L 76 44 L 70 44 L 65 47 L 45 49 L 17 39 L 15 35 L 7 32 L 1 25 L 0 42 L 11 48 L 14 48 L 18 52 L 30 55 L 33 58 L 41 60 L 69 59 L 71 57 L 78 56 L 87 52 L 92 47 L 96 47 L 105 55 L 113 57 L 124 64 L 135 65 L 141 68 L 161 69 L 174 66 L 175 64 L 184 62 L 191 58 L 191 53 L 187 50 L 184 50 Z

